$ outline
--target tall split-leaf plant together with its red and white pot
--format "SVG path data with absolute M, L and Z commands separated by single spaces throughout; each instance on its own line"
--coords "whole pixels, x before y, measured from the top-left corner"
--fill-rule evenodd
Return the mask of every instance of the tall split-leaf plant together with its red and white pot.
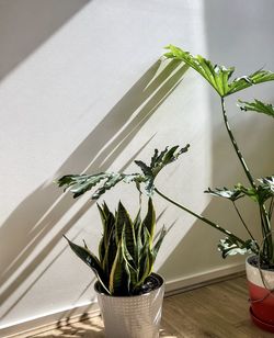
M 210 193 L 214 196 L 226 199 L 232 203 L 241 225 L 247 230 L 247 238 L 241 238 L 238 235 L 232 234 L 228 229 L 221 227 L 217 223 L 193 212 L 191 209 L 167 196 L 157 188 L 155 181 L 159 172 L 162 170 L 162 168 L 164 168 L 165 165 L 171 164 L 172 161 L 176 160 L 181 154 L 187 151 L 190 147 L 189 145 L 181 149 L 179 146 L 165 148 L 163 151 L 156 149 L 150 164 L 136 160 L 136 165 L 138 165 L 141 169 L 141 172 L 139 173 L 126 174 L 101 172 L 90 176 L 72 174 L 61 178 L 59 183 L 64 183 L 66 188 L 71 190 L 75 194 L 83 193 L 93 187 L 101 184 L 100 188 L 92 194 L 92 199 L 98 199 L 106 190 L 122 181 L 127 183 L 135 182 L 139 190 L 141 184 L 145 184 L 145 190 L 149 196 L 152 196 L 153 193 L 157 193 L 173 205 L 192 214 L 218 232 L 221 232 L 225 235 L 225 238 L 219 241 L 218 249 L 221 252 L 222 258 L 237 254 L 252 255 L 247 259 L 247 277 L 251 301 L 251 317 L 258 326 L 274 331 L 274 294 L 272 293 L 274 290 L 274 241 L 271 226 L 274 207 L 274 176 L 259 179 L 253 178 L 253 174 L 249 169 L 249 166 L 247 165 L 247 161 L 244 160 L 233 136 L 225 106 L 226 97 L 254 84 L 273 81 L 274 74 L 260 69 L 250 76 L 242 76 L 231 80 L 231 76 L 235 72 L 233 67 L 226 68 L 218 65 L 214 66 L 204 57 L 194 57 L 189 52 L 184 52 L 181 48 L 172 45 L 168 46 L 167 49 L 168 53 L 164 54 L 167 58 L 184 61 L 195 71 L 197 71 L 203 78 L 205 78 L 219 95 L 221 108 L 220 112 L 224 117 L 224 124 L 231 145 L 236 151 L 237 158 L 242 166 L 249 185 L 246 187 L 241 183 L 237 183 L 231 189 L 216 188 L 208 189 L 205 192 Z M 274 117 L 274 106 L 260 100 L 254 100 L 253 102 L 239 101 L 238 105 L 241 111 L 252 111 Z M 259 225 L 248 225 L 244 222 L 237 206 L 237 201 L 243 198 L 251 199 L 256 204 L 260 214 Z M 255 238 L 252 234 L 252 227 L 254 226 L 259 226 L 261 229 L 260 238 Z

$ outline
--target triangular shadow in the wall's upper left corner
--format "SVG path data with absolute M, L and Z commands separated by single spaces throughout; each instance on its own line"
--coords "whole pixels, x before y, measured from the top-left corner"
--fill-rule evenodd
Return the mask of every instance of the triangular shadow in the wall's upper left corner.
M 90 1 L 0 1 L 0 80 Z

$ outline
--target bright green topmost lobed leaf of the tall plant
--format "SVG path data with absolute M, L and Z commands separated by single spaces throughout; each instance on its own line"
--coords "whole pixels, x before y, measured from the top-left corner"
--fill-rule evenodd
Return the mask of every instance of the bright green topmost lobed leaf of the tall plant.
M 242 76 L 229 81 L 235 71 L 233 67 L 214 66 L 203 56 L 197 55 L 194 57 L 189 52 L 173 45 L 167 46 L 165 49 L 169 50 L 164 54 L 167 58 L 183 60 L 186 65 L 199 72 L 221 98 L 253 84 L 274 80 L 274 74 L 272 71 L 260 69 L 250 76 Z

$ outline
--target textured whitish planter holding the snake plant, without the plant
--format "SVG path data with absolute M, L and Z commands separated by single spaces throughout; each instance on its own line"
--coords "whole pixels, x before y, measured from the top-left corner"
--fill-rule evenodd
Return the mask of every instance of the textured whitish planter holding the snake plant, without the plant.
M 96 290 L 98 302 L 107 338 L 157 338 L 159 337 L 163 279 L 161 286 L 142 295 L 110 296 Z

